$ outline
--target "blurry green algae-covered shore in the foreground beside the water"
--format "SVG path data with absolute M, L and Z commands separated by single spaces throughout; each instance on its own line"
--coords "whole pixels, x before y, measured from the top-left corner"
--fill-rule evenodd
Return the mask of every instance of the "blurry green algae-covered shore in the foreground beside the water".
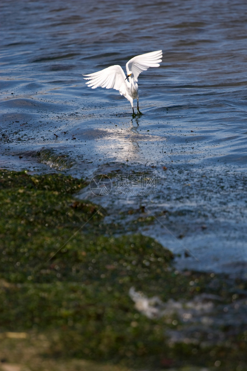
M 116 237 L 110 210 L 76 198 L 85 185 L 1 170 L 3 367 L 247 370 L 246 282 L 178 272 L 156 240 Z

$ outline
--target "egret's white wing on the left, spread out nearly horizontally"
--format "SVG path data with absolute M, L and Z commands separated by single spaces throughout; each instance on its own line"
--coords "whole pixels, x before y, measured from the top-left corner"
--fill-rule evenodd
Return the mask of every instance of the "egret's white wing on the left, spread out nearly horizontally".
M 119 65 L 110 66 L 101 71 L 83 76 L 88 76 L 86 78 L 84 77 L 84 79 L 89 80 L 86 82 L 86 84 L 92 89 L 101 86 L 101 88 L 113 88 L 119 90 L 121 95 L 125 95 L 126 93 L 126 76 L 124 75 L 123 69 Z

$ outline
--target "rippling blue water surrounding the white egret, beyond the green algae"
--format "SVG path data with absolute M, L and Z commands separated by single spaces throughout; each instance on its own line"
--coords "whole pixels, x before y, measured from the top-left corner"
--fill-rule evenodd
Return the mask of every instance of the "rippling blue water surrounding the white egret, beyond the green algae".
M 246 3 L 10 0 L 0 16 L 1 167 L 155 174 L 155 195 L 97 202 L 116 219 L 144 204 L 158 220 L 141 232 L 180 254 L 178 268 L 244 276 Z M 161 66 L 138 78 L 142 116 L 84 84 L 158 49 Z

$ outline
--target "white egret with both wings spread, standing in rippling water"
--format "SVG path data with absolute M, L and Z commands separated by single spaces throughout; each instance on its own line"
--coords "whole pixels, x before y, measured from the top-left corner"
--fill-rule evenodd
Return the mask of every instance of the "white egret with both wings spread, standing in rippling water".
M 159 67 L 159 63 L 162 62 L 161 58 L 162 50 L 156 50 L 155 52 L 141 54 L 131 58 L 126 63 L 127 77 L 124 75 L 124 71 L 119 65 L 110 66 L 101 71 L 83 76 L 88 76 L 84 79 L 89 80 L 86 84 L 92 89 L 101 86 L 101 88 L 119 90 L 120 94 L 130 101 L 133 114 L 135 114 L 133 99 L 137 99 L 137 110 L 141 113 L 138 105 L 137 78 L 142 71 L 146 71 L 149 67 Z

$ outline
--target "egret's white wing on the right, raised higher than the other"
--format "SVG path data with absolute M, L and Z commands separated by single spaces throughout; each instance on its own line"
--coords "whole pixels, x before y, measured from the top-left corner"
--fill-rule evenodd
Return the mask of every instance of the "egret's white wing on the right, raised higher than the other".
M 149 67 L 158 67 L 162 62 L 162 50 L 156 52 L 137 55 L 126 63 L 127 75 L 131 71 L 134 75 L 134 81 L 138 81 L 141 72 L 146 71 Z

